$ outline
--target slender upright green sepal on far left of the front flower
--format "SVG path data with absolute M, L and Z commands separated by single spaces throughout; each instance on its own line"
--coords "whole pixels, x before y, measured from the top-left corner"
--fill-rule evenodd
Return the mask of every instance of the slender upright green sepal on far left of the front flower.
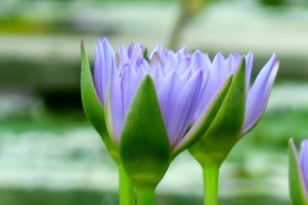
M 84 47 L 84 42 L 81 41 L 81 101 L 84 107 L 84 112 L 92 126 L 97 130 L 103 139 L 110 155 L 118 161 L 118 151 L 114 142 L 110 139 L 105 126 L 105 114 L 97 92 L 94 87 L 92 74 L 89 66 L 88 56 Z

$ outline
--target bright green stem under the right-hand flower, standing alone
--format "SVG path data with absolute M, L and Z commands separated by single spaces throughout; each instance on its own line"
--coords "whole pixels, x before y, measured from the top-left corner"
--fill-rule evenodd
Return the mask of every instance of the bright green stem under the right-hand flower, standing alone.
M 203 165 L 204 205 L 218 205 L 218 175 L 218 164 Z

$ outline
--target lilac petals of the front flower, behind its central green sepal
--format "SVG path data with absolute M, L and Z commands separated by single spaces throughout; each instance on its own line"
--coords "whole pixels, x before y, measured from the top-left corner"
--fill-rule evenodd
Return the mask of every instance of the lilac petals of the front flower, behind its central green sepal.
M 148 59 L 144 46 L 120 46 L 115 53 L 106 38 L 96 46 L 94 82 L 103 106 L 109 90 L 112 135 L 119 141 L 129 105 L 142 79 L 149 75 L 162 111 L 170 146 L 178 143 L 194 120 L 194 113 L 205 93 L 207 70 L 205 55 L 196 51 L 192 56 L 184 47 L 177 53 L 155 47 Z

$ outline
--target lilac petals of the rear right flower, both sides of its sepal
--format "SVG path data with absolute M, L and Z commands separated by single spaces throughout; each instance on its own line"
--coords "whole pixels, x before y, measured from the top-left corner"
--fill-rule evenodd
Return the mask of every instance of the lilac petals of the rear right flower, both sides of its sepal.
M 231 54 L 224 59 L 221 53 L 218 53 L 213 62 L 211 63 L 207 57 L 204 61 L 204 67 L 209 70 L 209 80 L 207 87 L 205 88 L 203 97 L 199 105 L 198 113 L 207 105 L 211 97 L 215 94 L 217 88 L 223 81 L 230 75 L 234 74 L 242 61 L 242 55 L 235 53 Z M 246 74 L 246 107 L 244 126 L 242 128 L 242 135 L 246 134 L 257 123 L 261 114 L 263 113 L 268 97 L 270 96 L 270 90 L 274 83 L 274 79 L 277 75 L 279 68 L 279 61 L 276 55 L 272 55 L 268 63 L 261 69 L 253 86 L 251 85 L 251 72 L 253 70 L 253 53 L 248 53 L 245 56 L 245 74 Z

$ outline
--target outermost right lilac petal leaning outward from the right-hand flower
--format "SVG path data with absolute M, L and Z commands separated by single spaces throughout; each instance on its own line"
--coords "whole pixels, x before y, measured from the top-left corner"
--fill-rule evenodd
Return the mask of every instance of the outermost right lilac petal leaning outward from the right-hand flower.
M 270 95 L 270 90 L 274 83 L 274 79 L 277 75 L 279 68 L 279 62 L 277 61 L 276 55 L 272 55 L 270 61 L 262 68 L 261 72 L 257 76 L 251 92 L 248 93 L 248 98 L 246 99 L 246 111 L 245 111 L 245 122 L 242 134 L 246 134 L 253 126 L 257 123 L 257 120 L 261 117 L 266 103 L 268 102 L 268 97 Z

